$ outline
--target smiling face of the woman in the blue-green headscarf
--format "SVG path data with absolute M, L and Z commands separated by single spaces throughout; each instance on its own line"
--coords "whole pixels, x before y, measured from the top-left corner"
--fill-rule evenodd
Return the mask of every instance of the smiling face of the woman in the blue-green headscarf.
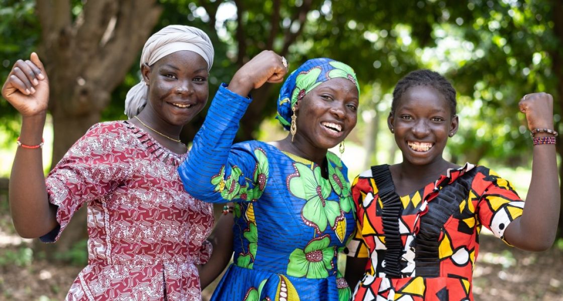
M 342 77 L 327 80 L 298 101 L 296 110 L 296 139 L 304 138 L 314 148 L 332 148 L 356 126 L 358 88 Z

